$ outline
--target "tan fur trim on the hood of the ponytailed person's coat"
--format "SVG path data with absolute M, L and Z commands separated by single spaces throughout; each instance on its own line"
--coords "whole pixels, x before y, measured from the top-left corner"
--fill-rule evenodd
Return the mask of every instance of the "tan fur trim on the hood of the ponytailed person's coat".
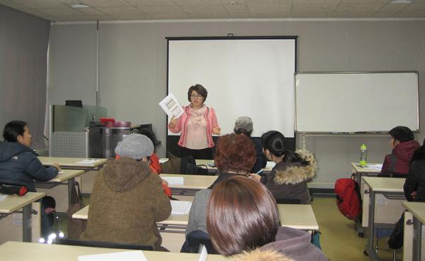
M 307 162 L 307 165 L 301 165 L 299 162 L 280 162 L 276 164 L 276 184 L 299 184 L 310 181 L 317 172 L 317 162 L 312 152 L 300 149 L 295 153 Z

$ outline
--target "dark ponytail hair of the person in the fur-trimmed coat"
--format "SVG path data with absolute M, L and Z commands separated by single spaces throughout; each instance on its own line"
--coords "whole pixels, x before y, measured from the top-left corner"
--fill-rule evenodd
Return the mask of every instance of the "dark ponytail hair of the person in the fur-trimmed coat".
M 301 165 L 308 165 L 298 153 L 288 150 L 285 136 L 277 130 L 270 130 L 261 135 L 261 147 L 276 157 L 283 155 L 283 162 L 300 162 Z

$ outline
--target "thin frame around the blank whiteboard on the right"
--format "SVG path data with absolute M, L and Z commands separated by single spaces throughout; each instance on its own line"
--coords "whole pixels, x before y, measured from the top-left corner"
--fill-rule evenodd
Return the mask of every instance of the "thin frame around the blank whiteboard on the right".
M 295 108 L 294 108 L 294 113 L 295 113 L 294 126 L 295 126 L 295 133 L 312 133 L 312 134 L 314 134 L 314 133 L 317 133 L 317 134 L 382 134 L 382 133 L 385 133 L 386 134 L 387 131 L 383 131 L 383 130 L 368 130 L 368 131 L 354 131 L 354 132 L 351 132 L 351 131 L 341 132 L 341 131 L 331 131 L 331 130 L 329 130 L 329 131 L 298 131 L 297 130 L 297 84 L 296 84 L 297 74 L 381 74 L 381 73 L 386 73 L 386 74 L 390 74 L 390 73 L 414 73 L 414 74 L 416 74 L 417 80 L 418 80 L 417 85 L 416 85 L 416 89 L 417 89 L 416 91 L 417 91 L 417 94 L 418 94 L 417 95 L 417 97 L 418 97 L 417 98 L 417 107 L 416 107 L 417 118 L 416 118 L 416 129 L 412 130 L 412 131 L 413 132 L 419 132 L 419 128 L 420 128 L 420 125 L 419 125 L 419 118 L 420 118 L 420 111 L 419 111 L 419 108 L 420 108 L 420 104 L 419 104 L 419 102 L 420 102 L 420 99 L 419 99 L 419 95 L 420 95 L 420 93 L 419 93 L 419 72 L 411 70 L 411 71 L 374 71 L 374 72 L 367 72 L 367 71 L 362 71 L 362 72 L 361 71 L 295 72 L 295 74 L 294 74 L 294 99 L 295 99 L 295 101 L 294 101 L 294 106 L 295 106 Z

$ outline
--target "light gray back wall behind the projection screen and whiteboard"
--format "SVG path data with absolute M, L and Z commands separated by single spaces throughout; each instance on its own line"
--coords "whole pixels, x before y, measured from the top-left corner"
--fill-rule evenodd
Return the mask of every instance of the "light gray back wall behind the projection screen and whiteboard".
M 65 99 L 95 97 L 96 87 L 74 82 L 91 79 L 95 70 L 96 33 L 93 24 L 52 25 L 50 103 Z M 163 143 L 166 140 L 165 114 L 158 102 L 166 94 L 167 36 L 298 35 L 297 69 L 312 71 L 387 71 L 417 70 L 419 86 L 425 87 L 425 21 L 215 21 L 101 23 L 100 104 L 110 116 L 133 123 L 153 123 Z M 81 40 L 81 35 L 87 35 Z M 58 43 L 58 44 L 57 44 Z M 75 48 L 78 43 L 79 48 Z M 81 53 L 81 50 L 90 50 Z M 83 59 L 84 58 L 84 59 Z M 184 62 L 184 61 L 182 61 Z M 201 61 L 200 61 L 201 62 Z M 84 70 L 75 70 L 76 65 Z M 64 79 L 65 72 L 72 77 Z M 61 79 L 59 81 L 58 79 Z M 69 95 L 69 96 L 67 96 Z M 424 91 L 420 91 L 420 111 L 424 111 Z M 382 94 L 385 99 L 385 94 Z M 95 99 L 88 99 L 94 102 Z M 388 101 L 397 102 L 397 101 Z M 212 104 L 213 106 L 213 104 Z M 361 101 L 359 101 L 361 106 Z M 264 112 L 269 113 L 269 112 Z M 355 111 L 353 113 L 356 113 Z M 371 111 L 370 113 L 373 113 Z M 424 129 L 424 113 L 421 129 Z M 220 116 L 218 116 L 220 119 Z M 421 142 L 423 133 L 417 133 Z M 298 146 L 302 138 L 298 135 Z M 348 177 L 349 162 L 358 161 L 361 143 L 368 145 L 368 160 L 382 162 L 389 153 L 387 136 L 307 136 L 306 147 L 319 162 L 313 186 L 333 187 L 334 179 Z M 164 156 L 164 145 L 159 155 Z

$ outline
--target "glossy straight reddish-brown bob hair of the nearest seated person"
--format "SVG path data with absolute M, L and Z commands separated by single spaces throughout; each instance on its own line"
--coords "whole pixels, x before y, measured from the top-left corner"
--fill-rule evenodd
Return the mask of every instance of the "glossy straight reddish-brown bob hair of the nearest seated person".
M 278 227 L 276 201 L 260 182 L 238 175 L 212 189 L 207 230 L 220 254 L 239 254 L 271 243 Z

